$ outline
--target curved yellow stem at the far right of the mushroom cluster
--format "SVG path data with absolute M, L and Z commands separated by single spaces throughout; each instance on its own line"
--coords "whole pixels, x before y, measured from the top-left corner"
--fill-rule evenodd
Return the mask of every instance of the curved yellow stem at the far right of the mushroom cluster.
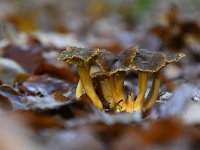
M 153 76 L 152 88 L 147 96 L 147 99 L 144 102 L 142 108 L 143 110 L 147 110 L 155 104 L 158 97 L 159 88 L 160 88 L 160 79 L 158 78 L 158 73 L 156 73 Z

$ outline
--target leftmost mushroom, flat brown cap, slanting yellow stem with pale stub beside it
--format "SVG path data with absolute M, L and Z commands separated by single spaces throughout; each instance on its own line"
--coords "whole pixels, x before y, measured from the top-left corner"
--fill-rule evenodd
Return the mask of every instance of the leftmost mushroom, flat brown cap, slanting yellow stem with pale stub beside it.
M 69 64 L 75 64 L 80 76 L 80 80 L 76 90 L 76 96 L 80 96 L 82 87 L 94 105 L 100 110 L 103 109 L 102 102 L 93 86 L 92 79 L 89 74 L 89 69 L 92 59 L 99 53 L 99 49 L 87 49 L 78 47 L 68 47 L 61 53 L 58 60 L 66 61 Z M 80 83 L 81 82 L 81 83 Z

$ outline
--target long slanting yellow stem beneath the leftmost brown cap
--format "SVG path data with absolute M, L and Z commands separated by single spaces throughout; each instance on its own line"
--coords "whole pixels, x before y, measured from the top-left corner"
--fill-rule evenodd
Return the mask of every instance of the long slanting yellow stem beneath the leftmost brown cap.
M 87 67 L 84 64 L 77 65 L 77 71 L 81 79 L 81 83 L 83 84 L 83 88 L 88 95 L 88 97 L 92 100 L 94 105 L 99 108 L 100 110 L 103 109 L 103 105 L 101 100 L 96 94 L 96 91 L 94 89 L 92 79 L 89 75 L 89 71 Z

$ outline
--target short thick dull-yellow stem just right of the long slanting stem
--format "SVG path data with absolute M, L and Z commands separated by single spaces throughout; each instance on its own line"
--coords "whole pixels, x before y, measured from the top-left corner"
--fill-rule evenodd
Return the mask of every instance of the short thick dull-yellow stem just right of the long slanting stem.
M 110 108 L 113 108 L 114 100 L 113 100 L 113 95 L 112 95 L 109 79 L 104 79 L 100 81 L 100 85 L 101 85 L 104 98 L 108 102 Z

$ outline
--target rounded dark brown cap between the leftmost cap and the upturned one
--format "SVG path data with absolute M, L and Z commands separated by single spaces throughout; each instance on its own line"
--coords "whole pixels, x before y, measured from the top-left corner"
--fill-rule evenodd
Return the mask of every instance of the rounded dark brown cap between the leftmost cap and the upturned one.
M 117 60 L 118 58 L 112 52 L 100 49 L 95 62 L 103 72 L 109 73 Z

